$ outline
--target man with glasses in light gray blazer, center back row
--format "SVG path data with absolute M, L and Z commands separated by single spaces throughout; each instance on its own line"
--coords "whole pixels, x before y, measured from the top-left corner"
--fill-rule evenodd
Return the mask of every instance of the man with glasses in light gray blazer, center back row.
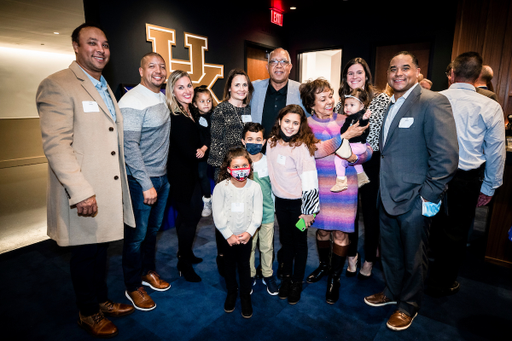
M 253 122 L 261 123 L 265 128 L 265 138 L 274 126 L 277 114 L 285 106 L 298 104 L 306 112 L 300 99 L 300 83 L 289 79 L 291 70 L 290 54 L 283 48 L 277 48 L 268 57 L 270 78 L 252 82 L 251 117 Z

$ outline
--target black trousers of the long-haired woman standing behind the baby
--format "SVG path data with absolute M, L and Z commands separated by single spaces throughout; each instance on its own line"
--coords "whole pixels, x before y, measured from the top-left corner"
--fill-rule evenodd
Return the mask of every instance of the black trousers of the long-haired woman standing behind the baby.
M 361 206 L 358 205 L 354 233 L 349 234 L 350 245 L 347 256 L 354 257 L 358 249 L 359 240 L 359 214 L 363 214 L 364 221 L 364 259 L 374 262 L 379 247 L 380 226 L 377 195 L 379 194 L 380 152 L 373 152 L 372 158 L 363 165 L 370 183 L 359 189 Z

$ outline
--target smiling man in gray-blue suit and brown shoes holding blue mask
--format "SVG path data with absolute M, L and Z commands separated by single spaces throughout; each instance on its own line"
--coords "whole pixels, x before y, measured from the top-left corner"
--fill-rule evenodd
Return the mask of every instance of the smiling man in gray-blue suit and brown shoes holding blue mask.
M 431 217 L 458 162 L 450 102 L 422 89 L 419 72 L 410 52 L 391 59 L 388 83 L 394 95 L 380 136 L 379 219 L 386 287 L 364 300 L 374 307 L 398 305 L 387 322 L 392 330 L 407 329 L 420 308 Z

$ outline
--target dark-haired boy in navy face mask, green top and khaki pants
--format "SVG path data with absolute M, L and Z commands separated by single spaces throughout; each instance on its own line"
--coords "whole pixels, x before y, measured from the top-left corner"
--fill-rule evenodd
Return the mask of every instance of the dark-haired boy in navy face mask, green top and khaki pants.
M 262 282 L 267 286 L 267 292 L 274 296 L 279 293 L 279 287 L 273 276 L 272 260 L 274 258 L 274 200 L 272 187 L 268 176 L 267 157 L 261 152 L 266 140 L 265 128 L 259 123 L 246 123 L 242 133 L 247 152 L 251 156 L 253 178 L 263 193 L 263 220 L 261 226 L 253 236 L 251 251 L 251 277 L 253 285 L 256 284 L 256 267 L 254 266 L 256 247 L 260 249 L 260 266 Z

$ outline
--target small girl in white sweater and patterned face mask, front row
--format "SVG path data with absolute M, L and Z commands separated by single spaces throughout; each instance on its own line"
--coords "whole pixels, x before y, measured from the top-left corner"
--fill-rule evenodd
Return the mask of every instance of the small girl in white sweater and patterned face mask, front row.
M 235 310 L 238 296 L 236 273 L 240 280 L 242 316 L 252 316 L 251 266 L 252 236 L 261 225 L 263 195 L 251 174 L 251 157 L 243 147 L 229 149 L 220 167 L 218 183 L 213 189 L 213 222 L 225 238 L 224 278 L 228 294 L 224 311 Z

